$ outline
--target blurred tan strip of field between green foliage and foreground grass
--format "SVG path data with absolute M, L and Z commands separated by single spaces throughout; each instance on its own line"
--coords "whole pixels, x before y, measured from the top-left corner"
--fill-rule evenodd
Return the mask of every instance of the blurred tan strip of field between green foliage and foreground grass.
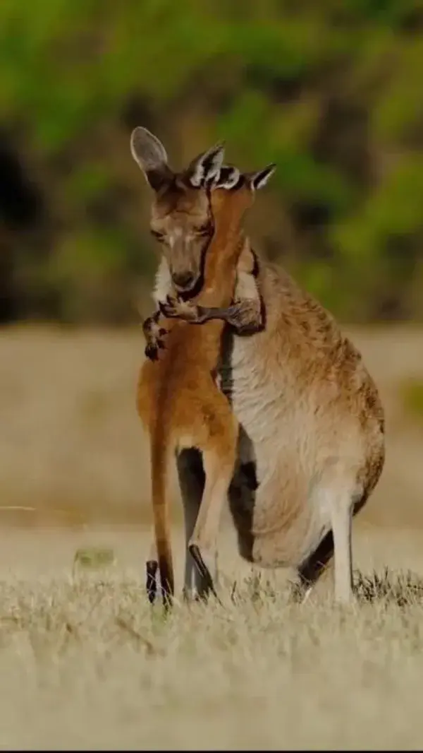
M 423 428 L 403 383 L 423 379 L 423 331 L 352 331 L 382 392 L 387 460 L 360 520 L 423 523 Z M 150 520 L 147 444 L 134 407 L 140 331 L 0 331 L 2 520 L 32 525 Z M 178 498 L 177 486 L 173 487 Z M 16 511 L 17 506 L 33 508 Z M 7 509 L 8 508 L 8 509 Z M 175 517 L 179 505 L 175 505 Z

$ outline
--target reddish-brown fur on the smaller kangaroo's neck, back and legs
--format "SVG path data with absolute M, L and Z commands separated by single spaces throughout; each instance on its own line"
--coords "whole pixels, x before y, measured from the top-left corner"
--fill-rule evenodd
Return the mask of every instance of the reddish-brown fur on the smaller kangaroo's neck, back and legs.
M 251 203 L 252 190 L 247 185 L 233 193 L 219 188 L 211 193 L 215 230 L 207 249 L 204 287 L 195 299 L 204 306 L 231 303 L 237 261 L 245 243 L 241 221 Z M 164 215 L 179 208 L 165 197 Z M 185 202 L 182 211 L 186 212 Z M 165 224 L 167 221 L 165 217 Z M 157 361 L 143 364 L 138 380 L 137 410 L 151 438 L 159 570 L 162 589 L 170 594 L 174 575 L 165 479 L 171 456 L 184 447 L 197 447 L 203 453 L 207 477 L 204 504 L 191 541 L 192 553 L 200 558 L 203 548 L 213 550 L 216 546 L 220 508 L 234 471 L 237 421 L 227 398 L 216 387 L 223 328 L 224 324 L 216 321 L 194 328 L 186 322 L 168 320 L 165 349 Z

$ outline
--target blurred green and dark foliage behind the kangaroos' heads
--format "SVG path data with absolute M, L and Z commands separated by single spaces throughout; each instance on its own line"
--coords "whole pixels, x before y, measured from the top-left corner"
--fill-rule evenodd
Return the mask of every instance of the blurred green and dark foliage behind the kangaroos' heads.
M 422 66 L 423 0 L 2 0 L 2 151 L 38 202 L 0 154 L 2 318 L 136 319 L 145 125 L 175 166 L 276 161 L 252 235 L 341 319 L 421 319 Z

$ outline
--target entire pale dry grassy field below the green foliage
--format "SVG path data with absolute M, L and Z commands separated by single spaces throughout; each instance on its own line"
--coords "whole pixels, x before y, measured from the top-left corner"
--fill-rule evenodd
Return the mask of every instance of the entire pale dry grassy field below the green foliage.
M 354 526 L 355 605 L 334 608 L 331 570 L 296 605 L 292 572 L 258 578 L 226 525 L 224 607 L 165 622 L 144 596 L 140 332 L 0 332 L 0 748 L 421 749 L 423 332 L 352 336 L 388 439 Z M 96 546 L 113 563 L 74 566 Z M 179 593 L 178 526 L 174 548 Z

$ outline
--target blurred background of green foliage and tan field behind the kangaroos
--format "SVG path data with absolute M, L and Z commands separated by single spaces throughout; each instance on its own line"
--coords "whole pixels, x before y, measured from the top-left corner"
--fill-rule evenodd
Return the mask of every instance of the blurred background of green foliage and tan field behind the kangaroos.
M 175 168 L 217 139 L 277 163 L 255 245 L 340 319 L 386 405 L 362 520 L 423 523 L 422 66 L 423 0 L 2 0 L 0 520 L 150 520 L 144 125 Z

